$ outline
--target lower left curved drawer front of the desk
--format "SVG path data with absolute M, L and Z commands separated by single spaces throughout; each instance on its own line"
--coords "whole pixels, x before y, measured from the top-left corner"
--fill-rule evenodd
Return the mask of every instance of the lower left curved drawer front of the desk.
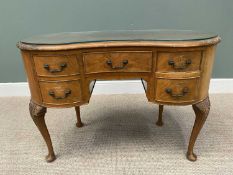
M 80 80 L 41 81 L 40 88 L 45 104 L 62 105 L 81 101 Z

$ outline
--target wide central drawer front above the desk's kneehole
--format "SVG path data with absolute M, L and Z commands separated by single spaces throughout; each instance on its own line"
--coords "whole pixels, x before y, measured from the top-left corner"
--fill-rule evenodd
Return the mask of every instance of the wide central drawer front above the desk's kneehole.
M 84 53 L 86 73 L 151 72 L 152 52 L 115 51 Z

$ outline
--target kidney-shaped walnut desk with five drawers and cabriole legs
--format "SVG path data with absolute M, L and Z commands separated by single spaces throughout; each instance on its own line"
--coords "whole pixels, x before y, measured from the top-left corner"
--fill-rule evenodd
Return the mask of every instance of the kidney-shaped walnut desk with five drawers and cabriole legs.
M 148 101 L 192 105 L 196 120 L 187 158 L 208 116 L 209 82 L 220 37 L 174 30 L 60 33 L 35 36 L 18 43 L 28 77 L 30 114 L 47 147 L 46 160 L 56 159 L 44 116 L 48 107 L 75 107 L 77 127 L 83 126 L 79 106 L 87 104 L 96 80 L 141 79 Z M 191 116 L 190 116 L 191 117 Z

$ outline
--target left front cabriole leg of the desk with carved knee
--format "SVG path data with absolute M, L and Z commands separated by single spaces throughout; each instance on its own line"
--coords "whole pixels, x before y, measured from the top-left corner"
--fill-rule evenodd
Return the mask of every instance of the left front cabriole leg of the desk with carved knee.
M 45 159 L 47 162 L 52 162 L 56 159 L 56 156 L 54 154 L 51 138 L 44 120 L 47 109 L 43 106 L 39 106 L 33 103 L 32 101 L 30 101 L 29 110 L 31 117 L 34 123 L 36 124 L 37 128 L 39 129 L 41 135 L 43 136 L 48 148 L 48 155 L 46 156 Z

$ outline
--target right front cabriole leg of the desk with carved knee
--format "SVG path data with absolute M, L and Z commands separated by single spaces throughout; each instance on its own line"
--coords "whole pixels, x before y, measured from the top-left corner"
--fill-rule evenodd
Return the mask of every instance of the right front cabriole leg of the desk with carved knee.
M 197 156 L 193 153 L 193 147 L 198 137 L 198 134 L 200 133 L 201 128 L 204 125 L 210 111 L 209 97 L 207 97 L 205 100 L 203 100 L 200 103 L 194 104 L 193 110 L 195 112 L 196 119 L 193 125 L 193 130 L 190 136 L 188 152 L 187 152 L 187 159 L 190 161 L 197 160 Z

